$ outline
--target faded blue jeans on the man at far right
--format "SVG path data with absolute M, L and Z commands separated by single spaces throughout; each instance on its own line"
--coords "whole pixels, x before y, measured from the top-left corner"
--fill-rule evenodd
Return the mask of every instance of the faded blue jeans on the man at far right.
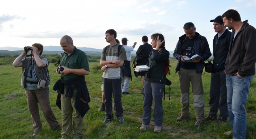
M 245 104 L 253 76 L 238 77 L 236 75 L 226 75 L 227 109 L 234 139 L 246 138 Z

